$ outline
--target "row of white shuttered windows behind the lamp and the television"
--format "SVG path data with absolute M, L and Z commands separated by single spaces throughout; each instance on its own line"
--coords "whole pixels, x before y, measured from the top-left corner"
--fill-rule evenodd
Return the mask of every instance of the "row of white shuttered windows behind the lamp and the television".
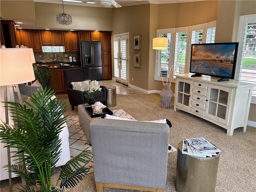
M 215 26 L 216 21 L 180 28 L 158 29 L 158 37 L 168 38 L 168 49 L 156 51 L 154 79 L 167 81 L 170 73 L 173 81 L 175 74 L 188 73 L 190 45 L 214 43 Z

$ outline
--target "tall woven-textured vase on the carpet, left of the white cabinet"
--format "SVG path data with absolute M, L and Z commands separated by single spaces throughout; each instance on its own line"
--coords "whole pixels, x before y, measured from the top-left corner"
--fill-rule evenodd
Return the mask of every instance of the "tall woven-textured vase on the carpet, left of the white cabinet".
M 164 84 L 164 89 L 160 93 L 162 108 L 171 108 L 173 96 L 174 94 L 171 90 L 171 85 Z

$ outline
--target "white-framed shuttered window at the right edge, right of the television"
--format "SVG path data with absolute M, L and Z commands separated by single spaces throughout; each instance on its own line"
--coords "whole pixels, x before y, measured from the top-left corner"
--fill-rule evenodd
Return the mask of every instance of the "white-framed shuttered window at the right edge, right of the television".
M 256 14 L 240 16 L 236 80 L 253 83 L 252 103 L 256 104 Z

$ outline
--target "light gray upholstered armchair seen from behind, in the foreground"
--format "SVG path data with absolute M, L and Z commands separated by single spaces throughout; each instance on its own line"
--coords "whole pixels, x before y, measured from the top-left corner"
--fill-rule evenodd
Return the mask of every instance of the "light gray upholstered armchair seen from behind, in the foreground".
M 94 118 L 90 138 L 97 192 L 104 187 L 163 192 L 167 124 Z

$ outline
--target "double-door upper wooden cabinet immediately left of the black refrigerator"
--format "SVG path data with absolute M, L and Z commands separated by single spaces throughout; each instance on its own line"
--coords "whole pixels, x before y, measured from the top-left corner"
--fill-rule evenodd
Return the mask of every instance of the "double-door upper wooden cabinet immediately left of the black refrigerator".
M 76 32 L 64 32 L 65 52 L 78 52 L 78 41 Z

